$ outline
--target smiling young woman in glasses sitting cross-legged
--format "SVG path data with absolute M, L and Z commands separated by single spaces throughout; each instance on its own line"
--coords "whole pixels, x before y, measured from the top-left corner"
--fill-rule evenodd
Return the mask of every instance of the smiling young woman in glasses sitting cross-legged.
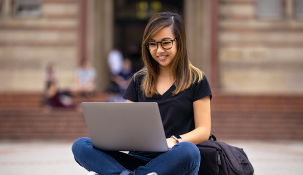
M 124 98 L 127 102 L 156 102 L 170 151 L 101 152 L 89 138 L 73 145 L 76 161 L 99 174 L 197 174 L 200 152 L 196 144 L 211 132 L 211 89 L 203 72 L 188 58 L 185 27 L 180 15 L 158 13 L 143 36 L 145 67 L 134 74 Z

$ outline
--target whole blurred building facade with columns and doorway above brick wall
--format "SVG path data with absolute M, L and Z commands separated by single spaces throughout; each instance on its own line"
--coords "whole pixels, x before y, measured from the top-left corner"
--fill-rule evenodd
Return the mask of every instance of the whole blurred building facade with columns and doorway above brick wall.
M 105 90 L 107 54 L 114 45 L 121 45 L 139 68 L 139 41 L 148 18 L 174 6 L 185 21 L 191 62 L 205 72 L 214 91 L 303 93 L 300 1 L 173 2 L 0 1 L 0 92 L 42 91 L 50 62 L 60 87 L 68 88 L 83 59 L 92 62 L 97 87 Z

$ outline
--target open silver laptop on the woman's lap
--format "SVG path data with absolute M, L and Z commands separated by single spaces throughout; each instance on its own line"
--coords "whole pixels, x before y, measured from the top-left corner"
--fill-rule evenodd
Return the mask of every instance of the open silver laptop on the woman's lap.
M 95 149 L 168 151 L 157 103 L 83 102 L 81 106 Z

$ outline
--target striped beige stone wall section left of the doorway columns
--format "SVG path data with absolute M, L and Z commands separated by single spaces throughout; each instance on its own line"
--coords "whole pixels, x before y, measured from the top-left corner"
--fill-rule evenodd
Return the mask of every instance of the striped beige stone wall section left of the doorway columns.
M 71 85 L 78 64 L 77 1 L 0 1 L 0 91 L 43 90 L 54 63 L 61 87 Z

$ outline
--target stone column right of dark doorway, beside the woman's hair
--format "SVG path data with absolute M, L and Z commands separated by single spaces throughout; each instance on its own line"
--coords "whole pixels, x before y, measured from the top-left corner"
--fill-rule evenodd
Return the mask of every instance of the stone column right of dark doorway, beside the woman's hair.
M 189 56 L 192 64 L 201 69 L 207 76 L 213 90 L 218 87 L 217 42 L 214 36 L 216 29 L 212 14 L 215 1 L 184 1 L 185 28 Z

